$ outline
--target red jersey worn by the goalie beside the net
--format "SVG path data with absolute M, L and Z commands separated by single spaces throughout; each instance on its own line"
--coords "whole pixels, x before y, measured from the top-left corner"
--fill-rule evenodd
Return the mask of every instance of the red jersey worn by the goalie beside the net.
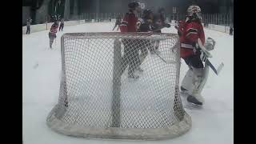
M 191 54 L 194 54 L 195 42 L 198 42 L 198 38 L 201 39 L 202 44 L 205 43 L 205 33 L 203 31 L 202 23 L 199 21 L 181 21 L 179 22 L 178 30 L 182 32 L 179 36 L 181 42 L 180 57 L 186 58 Z

